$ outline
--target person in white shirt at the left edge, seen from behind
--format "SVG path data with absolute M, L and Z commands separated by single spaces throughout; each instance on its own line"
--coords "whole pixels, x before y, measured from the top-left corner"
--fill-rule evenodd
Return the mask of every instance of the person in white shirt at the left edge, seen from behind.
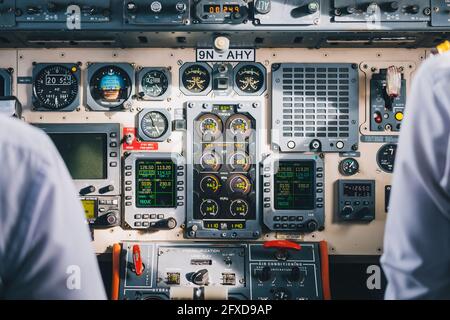
M 0 299 L 105 299 L 69 172 L 40 130 L 0 115 Z

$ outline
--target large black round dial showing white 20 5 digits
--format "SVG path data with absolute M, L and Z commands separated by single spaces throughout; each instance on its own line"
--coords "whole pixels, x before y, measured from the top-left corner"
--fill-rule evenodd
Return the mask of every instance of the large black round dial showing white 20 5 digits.
M 50 65 L 43 68 L 33 82 L 33 93 L 38 105 L 49 110 L 70 106 L 78 97 L 78 67 Z

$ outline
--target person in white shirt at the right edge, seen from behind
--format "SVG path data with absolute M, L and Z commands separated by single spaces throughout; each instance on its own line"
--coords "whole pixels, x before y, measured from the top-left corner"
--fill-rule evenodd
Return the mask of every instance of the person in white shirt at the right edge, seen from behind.
M 450 53 L 410 88 L 381 263 L 386 299 L 450 299 Z

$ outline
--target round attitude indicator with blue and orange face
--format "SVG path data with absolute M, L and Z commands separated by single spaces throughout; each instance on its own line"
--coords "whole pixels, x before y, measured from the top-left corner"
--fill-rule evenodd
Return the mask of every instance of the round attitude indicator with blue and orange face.
M 105 66 L 93 74 L 89 89 L 98 104 L 119 107 L 131 96 L 131 78 L 118 66 Z

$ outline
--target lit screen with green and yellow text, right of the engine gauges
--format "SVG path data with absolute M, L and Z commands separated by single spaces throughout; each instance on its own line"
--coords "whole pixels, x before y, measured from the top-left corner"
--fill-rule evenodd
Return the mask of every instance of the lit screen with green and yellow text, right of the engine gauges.
M 275 209 L 312 210 L 315 200 L 315 162 L 280 161 L 274 177 Z

